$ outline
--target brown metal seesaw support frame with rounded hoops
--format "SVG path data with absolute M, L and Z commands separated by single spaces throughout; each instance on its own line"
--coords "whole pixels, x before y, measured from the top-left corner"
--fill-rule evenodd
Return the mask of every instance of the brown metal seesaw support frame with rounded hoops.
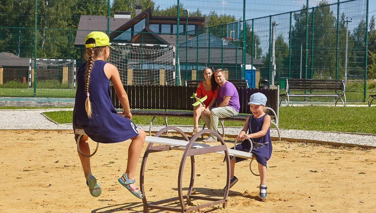
M 141 164 L 141 172 L 140 172 L 140 186 L 141 186 L 141 192 L 144 195 L 143 198 L 143 203 L 144 203 L 144 213 L 149 212 L 149 208 L 152 209 L 159 209 L 159 210 L 167 210 L 167 211 L 176 211 L 176 212 L 187 212 L 187 211 L 193 211 L 197 210 L 200 208 L 205 208 L 205 207 L 210 207 L 218 204 L 222 204 L 223 208 L 226 208 L 227 206 L 227 196 L 229 193 L 229 186 L 230 186 L 230 157 L 229 157 L 229 151 L 227 149 L 226 143 L 224 143 L 223 138 L 220 136 L 215 131 L 212 130 L 201 130 L 195 134 L 191 140 L 188 139 L 188 137 L 185 135 L 185 133 L 176 127 L 170 126 L 170 127 L 165 127 L 161 130 L 159 130 L 154 137 L 159 137 L 162 133 L 168 131 L 168 130 L 174 130 L 179 132 L 183 138 L 186 141 L 189 141 L 186 145 L 158 145 L 158 146 L 153 146 L 153 143 L 158 143 L 158 142 L 149 142 L 149 145 L 146 148 L 143 161 Z M 218 140 L 221 142 L 221 145 L 218 146 L 210 146 L 202 143 L 194 143 L 197 138 L 200 137 L 200 135 L 204 133 L 211 133 L 215 134 L 218 137 Z M 168 140 L 167 138 L 164 138 Z M 150 153 L 153 152 L 163 152 L 163 151 L 169 151 L 169 150 L 182 150 L 184 151 L 182 155 L 182 160 L 180 161 L 180 167 L 179 167 L 179 175 L 178 175 L 178 180 L 177 180 L 177 186 L 178 186 L 178 196 L 174 198 L 169 198 L 169 199 L 164 199 L 161 201 L 155 201 L 155 202 L 147 202 L 146 194 L 145 194 L 145 185 L 144 185 L 144 175 L 145 175 L 145 167 L 146 167 L 146 161 L 147 157 L 149 156 Z M 226 176 L 226 188 L 224 191 L 223 198 L 212 198 L 208 196 L 197 196 L 197 195 L 192 195 L 193 191 L 193 184 L 194 184 L 194 177 L 195 177 L 195 161 L 194 161 L 194 155 L 200 155 L 200 154 L 206 154 L 206 153 L 212 153 L 212 152 L 224 152 L 225 158 L 226 158 L 226 166 L 227 166 L 227 176 Z M 183 189 L 182 189 L 182 180 L 183 180 L 183 168 L 185 164 L 185 160 L 187 157 L 191 158 L 191 181 L 190 181 L 190 186 L 188 189 L 188 192 L 186 195 L 183 195 Z M 187 204 L 191 203 L 191 199 L 200 199 L 200 200 L 206 200 L 206 201 L 211 201 L 205 204 L 197 205 L 197 206 L 192 206 L 192 207 L 186 207 L 184 199 L 186 199 Z M 173 201 L 179 201 L 180 203 L 180 208 L 176 207 L 168 207 L 168 206 L 163 206 L 160 204 L 165 204 L 168 202 L 173 202 Z

